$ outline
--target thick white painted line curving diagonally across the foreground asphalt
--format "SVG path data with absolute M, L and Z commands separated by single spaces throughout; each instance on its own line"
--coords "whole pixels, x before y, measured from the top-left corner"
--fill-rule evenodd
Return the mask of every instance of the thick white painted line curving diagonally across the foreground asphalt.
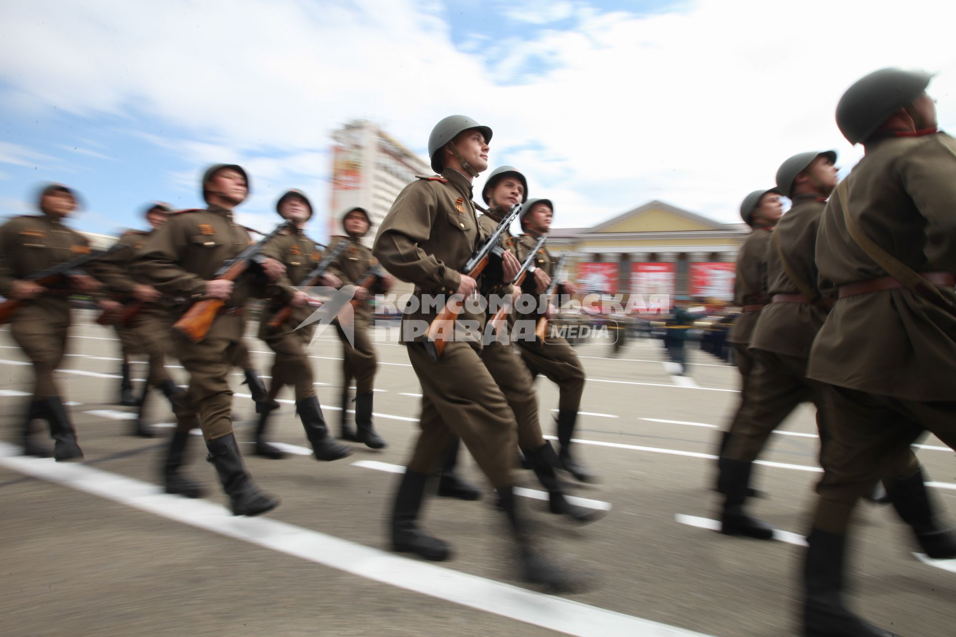
M 403 558 L 286 522 L 233 517 L 219 504 L 170 496 L 161 493 L 155 484 L 88 465 L 56 463 L 51 458 L 12 457 L 17 451 L 12 445 L 0 444 L 0 465 L 168 520 L 532 626 L 580 637 L 707 637 L 684 628 Z

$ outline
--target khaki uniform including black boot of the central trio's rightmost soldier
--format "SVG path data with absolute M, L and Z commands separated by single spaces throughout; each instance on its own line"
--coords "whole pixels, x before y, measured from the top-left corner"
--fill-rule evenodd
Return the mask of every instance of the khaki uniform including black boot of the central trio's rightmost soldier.
M 516 243 L 518 260 L 524 262 L 536 243 L 537 236 L 533 234 L 518 237 Z M 544 270 L 548 276 L 552 278 L 557 276 L 558 273 L 554 271 L 557 262 L 547 247 L 538 252 L 535 262 L 535 265 Z M 560 293 L 561 288 L 558 287 L 557 291 Z M 528 320 L 518 318 L 518 322 Z M 571 438 L 575 433 L 577 412 L 581 405 L 581 396 L 584 394 L 584 366 L 577 358 L 575 350 L 563 336 L 553 333 L 545 336 L 545 341 L 540 347 L 534 341 L 526 339 L 519 339 L 518 346 L 521 350 L 521 359 L 528 366 L 532 378 L 540 373 L 557 384 L 557 440 L 560 445 L 558 457 L 562 466 L 579 480 L 593 479 L 594 475 L 571 455 Z

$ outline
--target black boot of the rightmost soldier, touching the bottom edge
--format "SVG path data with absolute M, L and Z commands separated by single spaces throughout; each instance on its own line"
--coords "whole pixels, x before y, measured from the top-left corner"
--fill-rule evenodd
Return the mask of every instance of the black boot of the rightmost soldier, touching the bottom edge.
M 803 570 L 806 637 L 898 637 L 864 622 L 843 605 L 846 536 L 811 531 Z

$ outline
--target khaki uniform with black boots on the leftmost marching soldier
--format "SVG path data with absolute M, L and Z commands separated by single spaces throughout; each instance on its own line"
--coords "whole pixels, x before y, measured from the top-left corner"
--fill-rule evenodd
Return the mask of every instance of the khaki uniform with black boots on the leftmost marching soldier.
M 10 296 L 14 281 L 89 251 L 86 238 L 54 216 L 11 219 L 0 227 L 0 295 Z M 31 421 L 42 418 L 50 423 L 57 460 L 83 457 L 76 444 L 76 430 L 54 381 L 54 371 L 66 353 L 70 329 L 68 294 L 69 287 L 53 287 L 24 301 L 13 314 L 10 326 L 13 340 L 33 363 L 33 401 L 23 431 L 25 452 L 46 455 L 30 440 Z

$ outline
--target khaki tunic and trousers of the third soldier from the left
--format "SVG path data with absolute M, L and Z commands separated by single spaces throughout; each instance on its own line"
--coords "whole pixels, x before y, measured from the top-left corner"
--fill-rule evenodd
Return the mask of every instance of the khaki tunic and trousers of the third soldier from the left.
M 225 208 L 181 212 L 150 235 L 134 260 L 133 274 L 163 294 L 198 301 L 205 298 L 206 282 L 250 243 L 249 232 Z M 288 286 L 271 288 L 285 300 L 292 298 Z M 206 441 L 232 433 L 228 373 L 243 338 L 243 308 L 250 296 L 265 293 L 257 274 L 244 274 L 206 338 L 195 344 L 179 336 L 173 339 L 177 357 L 189 372 L 189 401 L 199 411 Z

